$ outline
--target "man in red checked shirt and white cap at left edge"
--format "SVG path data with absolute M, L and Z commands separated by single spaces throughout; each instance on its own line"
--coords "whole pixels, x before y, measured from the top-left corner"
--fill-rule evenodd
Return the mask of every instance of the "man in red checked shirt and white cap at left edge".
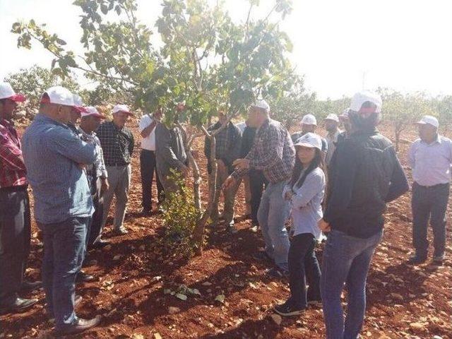
M 30 251 L 30 203 L 20 140 L 13 126 L 14 109 L 25 97 L 0 83 L 0 314 L 28 309 L 37 299 L 18 297 L 40 282 L 23 282 Z

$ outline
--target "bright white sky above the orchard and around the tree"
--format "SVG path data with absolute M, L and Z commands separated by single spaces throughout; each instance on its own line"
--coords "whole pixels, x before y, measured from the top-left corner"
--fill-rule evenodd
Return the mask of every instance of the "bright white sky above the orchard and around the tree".
M 160 0 L 137 0 L 138 18 L 153 26 Z M 214 0 L 210 0 L 214 1 Z M 34 18 L 83 52 L 81 12 L 73 0 L 0 0 L 0 80 L 33 64 L 49 67 L 52 56 L 38 44 L 18 49 L 11 25 Z M 261 0 L 261 16 L 272 0 Z M 308 90 L 320 98 L 350 96 L 378 87 L 403 93 L 452 95 L 451 0 L 293 0 L 281 26 L 290 56 Z M 225 0 L 234 20 L 244 20 L 246 0 Z M 85 79 L 81 85 L 89 87 Z

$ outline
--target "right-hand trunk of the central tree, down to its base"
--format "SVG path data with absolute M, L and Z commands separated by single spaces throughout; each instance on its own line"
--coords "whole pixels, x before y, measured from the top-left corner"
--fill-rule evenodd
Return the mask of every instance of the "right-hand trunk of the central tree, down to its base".
M 208 191 L 208 203 L 207 208 L 204 210 L 201 218 L 196 222 L 195 230 L 193 232 L 193 240 L 196 244 L 196 256 L 201 256 L 203 254 L 203 244 L 204 244 L 204 228 L 206 223 L 212 215 L 213 205 L 215 201 L 215 191 L 217 184 L 217 162 L 215 161 L 215 136 L 210 136 L 210 160 L 212 162 L 212 170 L 209 173 L 209 191 Z

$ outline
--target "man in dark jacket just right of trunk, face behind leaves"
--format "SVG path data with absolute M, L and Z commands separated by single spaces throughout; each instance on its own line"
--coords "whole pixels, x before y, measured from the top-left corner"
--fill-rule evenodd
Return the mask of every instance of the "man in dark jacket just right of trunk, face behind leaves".
M 223 182 L 225 182 L 226 178 L 234 172 L 232 162 L 239 158 L 240 145 L 242 144 L 242 132 L 237 126 L 232 124 L 231 121 L 227 121 L 226 114 L 222 111 L 218 112 L 217 123 L 210 126 L 208 131 L 216 131 L 223 125 L 226 126 L 215 136 L 215 159 L 217 160 L 217 196 L 215 196 L 215 199 L 220 197 Z M 212 164 L 210 163 L 209 138 L 206 138 L 206 142 L 204 143 L 204 154 L 206 154 L 208 159 L 207 167 L 208 172 L 210 173 L 212 171 Z M 226 225 L 229 225 L 230 227 L 234 225 L 234 200 L 238 188 L 239 183 L 223 192 L 225 209 L 222 213 L 222 219 L 224 219 Z M 215 220 L 217 218 L 218 210 L 214 210 L 213 219 Z

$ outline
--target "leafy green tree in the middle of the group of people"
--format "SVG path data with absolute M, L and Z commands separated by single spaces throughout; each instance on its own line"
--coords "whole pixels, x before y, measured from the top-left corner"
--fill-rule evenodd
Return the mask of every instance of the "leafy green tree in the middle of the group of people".
M 163 0 L 162 14 L 155 23 L 163 42 L 160 49 L 150 43 L 150 28 L 136 19 L 134 0 L 74 2 L 83 11 L 81 42 L 86 49 L 78 57 L 66 49 L 64 40 L 34 20 L 14 23 L 12 28 L 19 35 L 20 47 L 31 48 L 31 41 L 37 40 L 54 55 L 54 73 L 66 76 L 70 69 L 81 69 L 106 88 L 133 97 L 138 108 L 153 112 L 163 107 L 168 126 L 178 121 L 186 131 L 185 146 L 199 210 L 201 177 L 190 149 L 200 132 L 210 138 L 214 168 L 208 205 L 194 230 L 198 253 L 215 197 L 215 133 L 208 133 L 208 121 L 218 109 L 233 119 L 245 114 L 256 97 L 278 100 L 292 86 L 285 81 L 294 73 L 287 59 L 292 45 L 278 27 L 290 13 L 291 2 L 275 0 L 266 16 L 254 19 L 258 2 L 250 0 L 244 21 L 234 23 L 222 1 L 209 6 L 206 0 Z M 111 11 L 117 13 L 117 22 L 106 21 Z M 178 102 L 184 102 L 184 112 L 174 109 Z

